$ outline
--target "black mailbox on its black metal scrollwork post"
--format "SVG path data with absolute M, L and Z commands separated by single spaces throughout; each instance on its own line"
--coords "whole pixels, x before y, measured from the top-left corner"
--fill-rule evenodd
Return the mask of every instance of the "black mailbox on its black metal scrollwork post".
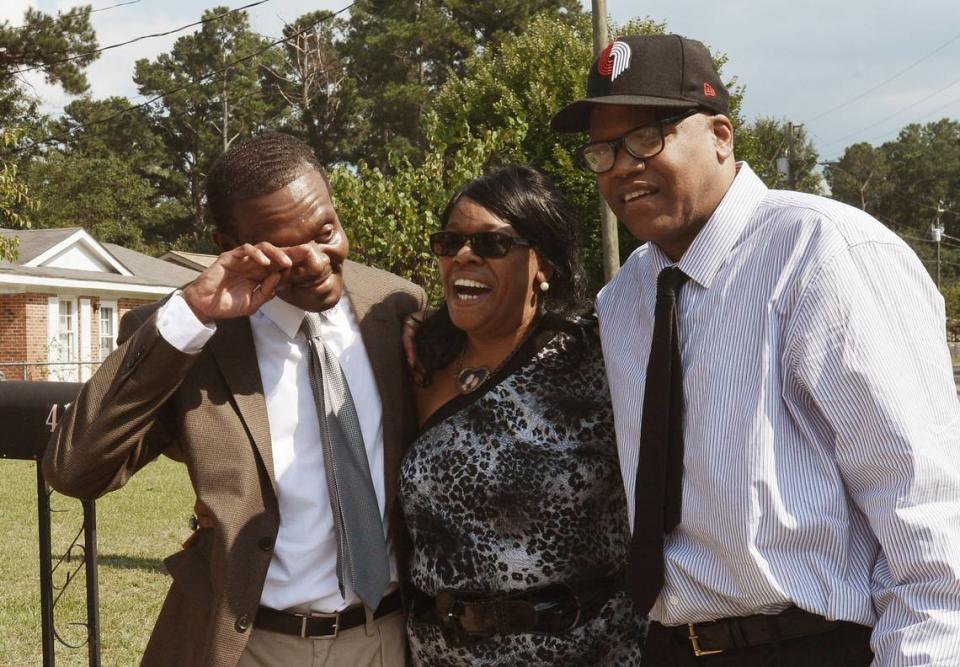
M 68 572 L 60 594 L 54 594 L 53 572 L 69 562 L 71 550 L 52 564 L 50 489 L 40 461 L 50 434 L 80 392 L 75 382 L 0 382 L 0 458 L 36 461 L 37 518 L 40 537 L 40 618 L 44 667 L 54 667 L 55 641 L 67 644 L 56 630 L 54 607 L 76 573 Z M 100 612 L 97 582 L 97 516 L 93 501 L 83 502 L 83 568 L 86 575 L 87 655 L 90 667 L 100 666 Z M 79 536 L 78 536 L 79 537 Z

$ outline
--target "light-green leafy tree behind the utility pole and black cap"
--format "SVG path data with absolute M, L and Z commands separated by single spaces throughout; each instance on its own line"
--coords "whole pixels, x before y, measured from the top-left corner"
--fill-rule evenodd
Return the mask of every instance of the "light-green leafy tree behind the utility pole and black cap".
M 550 129 L 553 115 L 583 97 L 585 73 L 593 62 L 591 24 L 586 16 L 541 15 L 526 29 L 508 35 L 497 47 L 488 48 L 464 64 L 464 72 L 452 74 L 431 103 L 447 128 L 447 141 L 455 150 L 470 137 L 518 123 L 525 128 L 518 143 L 504 146 L 492 159 L 522 162 L 546 171 L 577 210 L 582 239 L 582 258 L 592 287 L 603 284 L 601 239 L 597 203 L 599 194 L 593 174 L 574 158 L 583 135 L 557 134 Z M 659 34 L 666 25 L 650 19 L 611 26 L 610 34 Z M 562 57 L 558 57 L 562 54 Z M 715 56 L 718 67 L 725 58 Z M 731 117 L 740 120 L 742 91 L 730 82 Z M 626 257 L 637 241 L 620 227 L 621 255 Z

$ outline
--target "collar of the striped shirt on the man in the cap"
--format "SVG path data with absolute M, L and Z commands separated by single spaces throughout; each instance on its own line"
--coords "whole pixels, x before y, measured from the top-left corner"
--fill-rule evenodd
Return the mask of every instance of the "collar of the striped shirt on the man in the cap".
M 678 266 L 704 288 L 710 287 L 717 272 L 726 263 L 730 251 L 740 242 L 753 212 L 767 195 L 767 186 L 746 162 L 737 163 L 737 175 L 693 243 L 683 253 Z M 650 244 L 657 272 L 674 262 L 660 248 Z

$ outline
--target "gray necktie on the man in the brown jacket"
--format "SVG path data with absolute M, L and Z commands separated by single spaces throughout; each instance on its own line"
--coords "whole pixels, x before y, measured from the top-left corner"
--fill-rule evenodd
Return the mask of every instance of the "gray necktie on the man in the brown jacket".
M 320 337 L 320 316 L 307 313 L 300 329 L 311 350 L 310 386 L 320 418 L 327 488 L 337 529 L 340 592 L 347 574 L 363 603 L 376 609 L 390 583 L 390 564 L 360 420 L 340 362 Z

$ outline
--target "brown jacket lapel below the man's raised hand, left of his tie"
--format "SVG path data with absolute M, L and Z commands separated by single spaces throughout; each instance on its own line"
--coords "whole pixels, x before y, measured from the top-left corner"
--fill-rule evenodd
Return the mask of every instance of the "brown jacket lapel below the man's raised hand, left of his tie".
M 217 322 L 217 333 L 210 339 L 208 347 L 230 388 L 237 412 L 260 454 L 260 460 L 276 494 L 270 422 L 267 419 L 267 404 L 263 398 L 263 383 L 260 380 L 260 367 L 257 365 L 250 320 L 241 317 Z

